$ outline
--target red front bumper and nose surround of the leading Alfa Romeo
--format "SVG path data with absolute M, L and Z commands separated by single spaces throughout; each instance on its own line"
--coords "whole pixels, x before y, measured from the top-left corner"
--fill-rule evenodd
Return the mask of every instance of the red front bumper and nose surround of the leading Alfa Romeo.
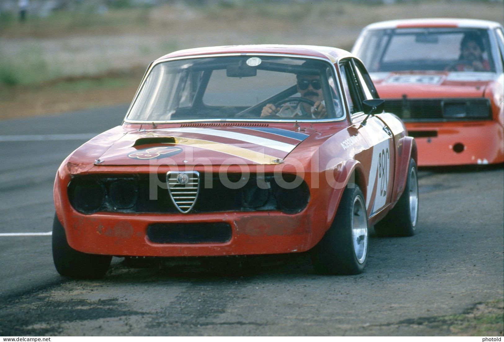
M 56 216 L 65 228 L 69 245 L 81 252 L 116 256 L 219 256 L 302 252 L 312 248 L 332 224 L 341 189 L 323 183 L 310 188 L 310 199 L 299 213 L 276 210 L 222 211 L 212 213 L 111 213 L 85 214 L 70 204 L 68 184 L 75 173 L 64 162 L 56 174 Z M 98 169 L 98 168 L 97 168 Z M 124 174 L 131 168 L 121 168 Z M 119 168 L 100 167 L 104 174 Z M 146 169 L 147 170 L 147 169 Z M 133 169 L 135 171 L 145 171 Z M 86 170 L 85 173 L 88 171 Z M 310 183 L 310 174 L 305 174 Z M 231 229 L 226 242 L 159 243 L 149 239 L 152 224 L 226 223 Z

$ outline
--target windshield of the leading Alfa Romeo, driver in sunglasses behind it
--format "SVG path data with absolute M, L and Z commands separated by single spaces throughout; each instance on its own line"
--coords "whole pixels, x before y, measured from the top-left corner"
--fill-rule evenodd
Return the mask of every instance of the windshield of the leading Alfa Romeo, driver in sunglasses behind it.
M 332 65 L 316 59 L 246 55 L 171 60 L 153 67 L 127 118 L 338 118 L 343 113 L 336 84 Z M 320 103 L 325 110 L 319 113 Z M 276 109 L 266 115 L 264 108 L 271 105 Z

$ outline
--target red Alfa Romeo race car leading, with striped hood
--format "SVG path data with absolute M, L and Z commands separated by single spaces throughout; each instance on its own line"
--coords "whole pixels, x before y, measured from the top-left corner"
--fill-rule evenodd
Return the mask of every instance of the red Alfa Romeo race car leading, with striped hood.
M 57 271 L 112 256 L 311 250 L 364 269 L 368 227 L 410 236 L 417 151 L 363 64 L 318 46 L 223 46 L 151 63 L 122 125 L 74 151 L 54 184 Z

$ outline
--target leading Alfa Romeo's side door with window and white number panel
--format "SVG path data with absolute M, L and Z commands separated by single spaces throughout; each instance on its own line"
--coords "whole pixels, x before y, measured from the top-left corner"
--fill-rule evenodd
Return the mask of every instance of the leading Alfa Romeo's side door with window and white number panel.
M 356 156 L 356 159 L 367 173 L 366 209 L 371 217 L 392 200 L 394 138 L 391 129 L 378 116 L 369 116 L 364 122 L 367 115 L 362 110 L 362 101 L 377 98 L 377 94 L 360 61 L 345 59 L 340 63 L 340 71 L 352 125 L 367 143 L 367 149 Z

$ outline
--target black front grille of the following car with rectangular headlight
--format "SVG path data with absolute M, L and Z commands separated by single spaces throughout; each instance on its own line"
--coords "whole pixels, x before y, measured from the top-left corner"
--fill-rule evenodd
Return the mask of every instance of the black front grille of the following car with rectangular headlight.
M 404 121 L 457 121 L 489 119 L 487 99 L 387 99 L 385 111 Z

